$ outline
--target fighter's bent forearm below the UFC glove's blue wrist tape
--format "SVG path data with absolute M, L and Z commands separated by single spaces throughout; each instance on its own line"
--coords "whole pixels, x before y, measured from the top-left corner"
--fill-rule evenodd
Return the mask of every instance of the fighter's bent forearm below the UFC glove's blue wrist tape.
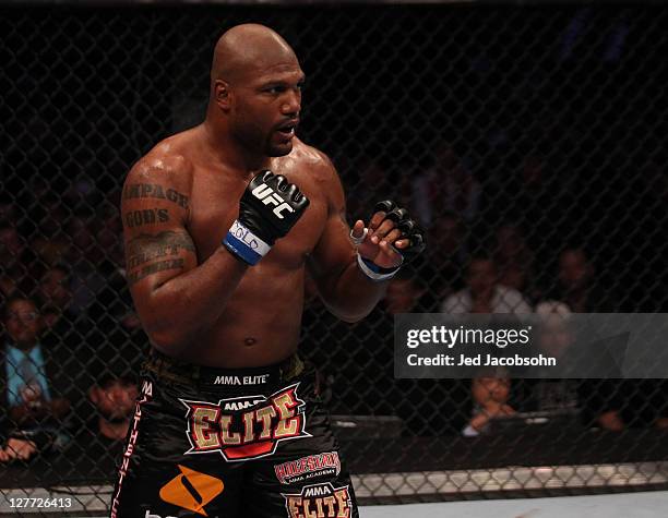
M 165 352 L 187 347 L 220 317 L 247 268 L 219 248 L 198 267 L 157 286 L 141 314 L 151 341 Z

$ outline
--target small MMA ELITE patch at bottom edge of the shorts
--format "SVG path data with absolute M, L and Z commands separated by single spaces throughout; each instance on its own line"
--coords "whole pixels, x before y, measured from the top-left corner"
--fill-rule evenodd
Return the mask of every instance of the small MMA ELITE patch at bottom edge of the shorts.
M 348 518 L 353 508 L 348 486 L 334 487 L 330 482 L 307 485 L 300 493 L 282 493 L 282 495 L 289 518 L 306 516 Z

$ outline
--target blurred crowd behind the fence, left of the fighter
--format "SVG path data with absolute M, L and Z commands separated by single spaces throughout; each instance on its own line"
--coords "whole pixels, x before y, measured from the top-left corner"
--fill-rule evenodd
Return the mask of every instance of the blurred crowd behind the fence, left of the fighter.
M 75 441 L 118 454 L 148 347 L 126 287 L 118 200 L 84 178 L 56 183 L 0 198 L 3 462 Z

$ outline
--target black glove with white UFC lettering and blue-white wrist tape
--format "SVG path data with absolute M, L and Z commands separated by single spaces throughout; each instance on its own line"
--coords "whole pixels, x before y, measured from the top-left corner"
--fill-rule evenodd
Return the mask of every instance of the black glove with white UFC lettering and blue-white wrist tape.
M 284 176 L 260 171 L 243 191 L 239 218 L 223 244 L 240 260 L 254 265 L 278 238 L 289 232 L 308 206 L 309 198 Z

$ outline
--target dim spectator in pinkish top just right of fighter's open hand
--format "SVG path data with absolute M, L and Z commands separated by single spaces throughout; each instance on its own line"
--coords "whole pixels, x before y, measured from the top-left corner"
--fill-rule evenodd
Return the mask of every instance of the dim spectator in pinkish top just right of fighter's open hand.
M 449 142 L 437 147 L 433 165 L 413 183 L 413 200 L 419 200 L 414 210 L 426 228 L 443 212 L 472 221 L 478 212 L 479 196 L 480 183 Z

